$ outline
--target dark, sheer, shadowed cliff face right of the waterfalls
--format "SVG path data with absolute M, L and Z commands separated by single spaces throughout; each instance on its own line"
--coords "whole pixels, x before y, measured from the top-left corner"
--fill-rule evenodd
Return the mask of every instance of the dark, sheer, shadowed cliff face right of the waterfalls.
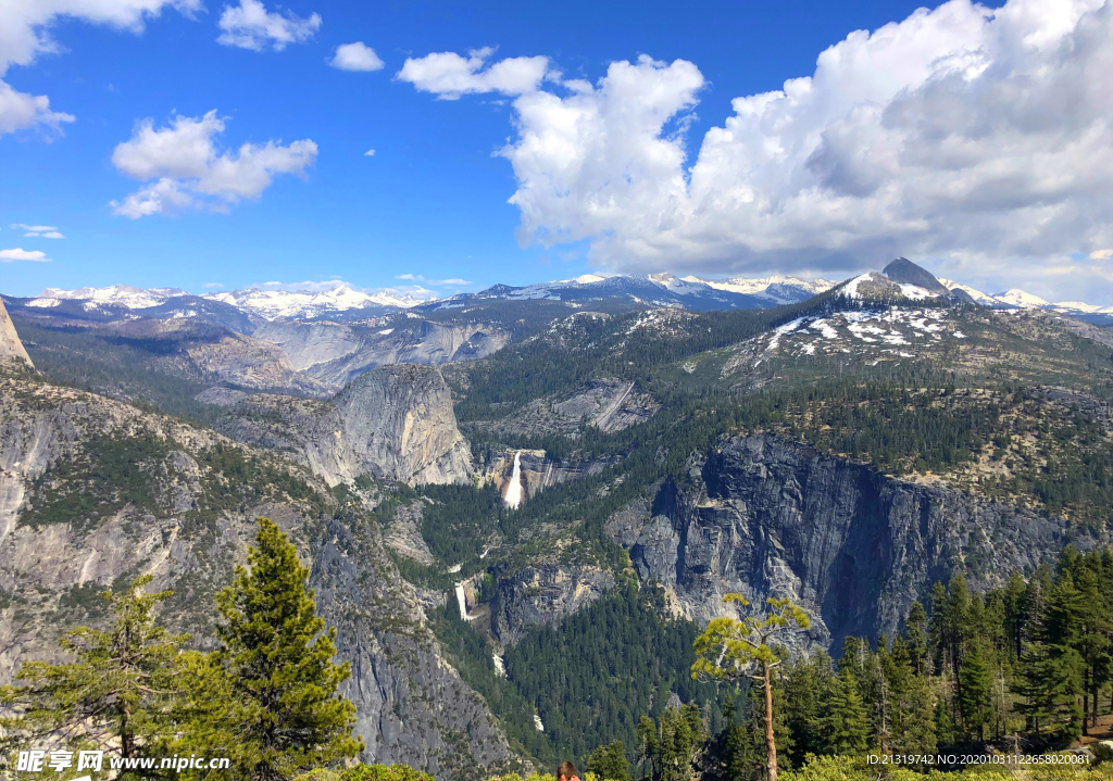
M 769 435 L 725 441 L 693 458 L 689 476 L 608 522 L 639 574 L 701 623 L 729 614 L 729 592 L 756 604 L 789 596 L 811 615 L 811 640 L 834 650 L 848 634 L 893 633 L 914 600 L 956 571 L 975 589 L 1001 585 L 1054 562 L 1070 540 L 1061 520 Z

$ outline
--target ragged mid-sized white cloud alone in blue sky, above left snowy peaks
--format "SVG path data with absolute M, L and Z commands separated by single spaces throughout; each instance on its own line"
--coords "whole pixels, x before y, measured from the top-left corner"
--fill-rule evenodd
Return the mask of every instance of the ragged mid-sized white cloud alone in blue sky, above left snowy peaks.
M 258 198 L 277 175 L 303 176 L 317 157 L 317 145 L 309 139 L 220 151 L 214 137 L 224 128 L 216 110 L 200 118 L 178 116 L 158 129 L 150 119 L 139 122 L 131 139 L 116 147 L 112 165 L 148 184 L 114 200 L 116 214 L 136 219 L 190 208 L 225 211 L 244 198 Z

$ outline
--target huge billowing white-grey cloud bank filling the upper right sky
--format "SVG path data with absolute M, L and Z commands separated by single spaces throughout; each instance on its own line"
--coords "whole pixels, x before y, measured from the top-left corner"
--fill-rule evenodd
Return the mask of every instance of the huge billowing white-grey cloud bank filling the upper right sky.
M 904 255 L 1004 280 L 1110 246 L 1111 73 L 1113 0 L 951 0 L 850 33 L 702 138 L 705 79 L 683 60 L 523 90 L 500 154 L 520 243 L 587 240 L 603 267 L 834 273 Z

